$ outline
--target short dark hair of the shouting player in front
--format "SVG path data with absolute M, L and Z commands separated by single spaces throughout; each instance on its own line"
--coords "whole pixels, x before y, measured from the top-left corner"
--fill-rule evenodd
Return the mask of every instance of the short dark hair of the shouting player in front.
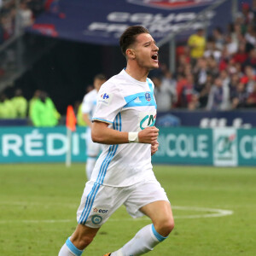
M 143 26 L 129 26 L 125 29 L 125 32 L 123 32 L 119 38 L 119 45 L 123 55 L 125 55 L 126 49 L 128 49 L 131 44 L 135 43 L 137 35 L 143 33 L 149 34 L 148 29 Z

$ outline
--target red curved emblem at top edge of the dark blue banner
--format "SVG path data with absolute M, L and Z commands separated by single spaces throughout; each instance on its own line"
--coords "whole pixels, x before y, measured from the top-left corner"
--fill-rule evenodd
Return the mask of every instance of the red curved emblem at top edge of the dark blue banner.
M 146 5 L 159 9 L 185 9 L 214 3 L 214 0 L 126 0 L 129 3 Z

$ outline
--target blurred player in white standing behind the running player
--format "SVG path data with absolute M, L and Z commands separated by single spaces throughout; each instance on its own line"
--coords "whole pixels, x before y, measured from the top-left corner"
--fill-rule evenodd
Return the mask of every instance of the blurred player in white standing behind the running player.
M 91 140 L 91 121 L 96 109 L 97 94 L 103 83 L 106 82 L 106 77 L 103 74 L 97 74 L 93 80 L 94 90 L 91 90 L 84 96 L 82 102 L 82 113 L 84 122 L 88 125 L 86 130 L 86 176 L 90 180 L 91 172 L 96 163 L 96 157 L 101 151 L 101 144 L 94 143 Z

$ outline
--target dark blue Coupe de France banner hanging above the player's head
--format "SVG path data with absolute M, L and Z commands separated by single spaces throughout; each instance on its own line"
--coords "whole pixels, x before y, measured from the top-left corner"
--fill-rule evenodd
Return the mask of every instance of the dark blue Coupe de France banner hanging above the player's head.
M 51 0 L 47 12 L 39 16 L 30 32 L 91 44 L 119 44 L 119 36 L 127 26 L 143 25 L 155 41 L 170 32 L 182 30 L 188 36 L 198 27 L 220 26 L 231 21 L 232 1 L 208 11 L 186 29 L 184 25 L 215 0 Z

